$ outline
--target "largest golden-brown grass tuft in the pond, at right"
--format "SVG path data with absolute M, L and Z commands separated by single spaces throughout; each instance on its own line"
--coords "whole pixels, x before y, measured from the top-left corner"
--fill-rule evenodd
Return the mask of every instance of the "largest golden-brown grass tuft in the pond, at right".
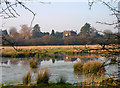
M 83 65 L 83 72 L 85 74 L 92 73 L 98 75 L 100 73 L 104 73 L 105 68 L 102 66 L 102 63 L 100 61 L 88 61 Z

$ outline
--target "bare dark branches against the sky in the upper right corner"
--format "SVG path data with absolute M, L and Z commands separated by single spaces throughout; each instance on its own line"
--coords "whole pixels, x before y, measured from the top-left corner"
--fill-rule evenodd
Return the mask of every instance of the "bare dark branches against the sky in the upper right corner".
M 116 17 L 116 22 L 108 23 L 108 22 L 100 22 L 97 21 L 96 23 L 105 24 L 105 25 L 114 25 L 114 28 L 118 28 L 118 33 L 111 33 L 111 35 L 115 35 L 118 38 L 118 45 L 120 44 L 120 2 L 117 0 L 105 1 L 105 0 L 88 0 L 88 5 L 90 9 L 96 2 L 101 2 L 103 5 L 108 7 L 111 10 L 112 15 Z M 118 3 L 118 7 L 111 5 L 110 3 Z M 105 33 L 105 32 L 104 32 Z M 106 33 L 108 34 L 108 33 Z

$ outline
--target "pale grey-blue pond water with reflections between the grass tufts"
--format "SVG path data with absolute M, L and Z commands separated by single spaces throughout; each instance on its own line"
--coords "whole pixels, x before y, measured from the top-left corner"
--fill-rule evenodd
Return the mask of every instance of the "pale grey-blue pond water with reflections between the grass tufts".
M 40 71 L 41 68 L 45 69 L 48 68 L 49 72 L 51 73 L 51 77 L 49 81 L 56 82 L 59 76 L 64 76 L 69 83 L 77 83 L 82 82 L 85 80 L 83 75 L 79 75 L 79 78 L 76 79 L 76 74 L 74 73 L 73 65 L 76 63 L 77 60 L 81 60 L 82 62 L 86 62 L 88 60 L 100 60 L 102 62 L 105 61 L 105 58 L 102 56 L 94 57 L 94 56 L 59 56 L 56 59 L 47 58 L 46 60 L 38 60 L 38 68 L 33 69 L 32 71 L 32 80 L 36 79 L 37 73 Z M 31 59 L 26 58 L 4 58 L 3 62 L 7 61 L 6 65 L 0 66 L 2 69 L 2 82 L 4 84 L 8 83 L 22 83 L 22 78 L 26 75 L 27 71 L 30 69 L 29 61 Z M 108 61 L 107 63 L 109 63 Z M 118 72 L 117 64 L 108 65 L 105 67 L 106 73 L 113 75 L 114 73 Z M 107 77 L 107 75 L 105 75 Z

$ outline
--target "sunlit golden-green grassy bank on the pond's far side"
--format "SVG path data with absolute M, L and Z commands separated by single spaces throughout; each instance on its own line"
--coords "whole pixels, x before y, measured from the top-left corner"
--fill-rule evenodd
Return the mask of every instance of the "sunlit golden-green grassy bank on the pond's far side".
M 75 45 L 75 46 L 17 46 L 17 51 L 12 47 L 2 47 L 2 57 L 34 57 L 39 54 L 43 57 L 56 57 L 58 54 L 64 53 L 68 55 L 81 54 L 119 54 L 120 49 L 115 46 L 108 46 L 106 49 L 101 49 L 99 45 Z

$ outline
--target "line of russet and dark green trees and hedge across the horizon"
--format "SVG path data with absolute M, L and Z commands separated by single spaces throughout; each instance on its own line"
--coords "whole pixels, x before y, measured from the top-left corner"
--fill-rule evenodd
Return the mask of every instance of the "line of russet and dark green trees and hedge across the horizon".
M 105 30 L 99 33 L 91 24 L 86 23 L 81 27 L 76 36 L 67 36 L 63 38 L 64 32 L 41 32 L 40 26 L 36 24 L 33 28 L 22 25 L 20 32 L 16 28 L 2 30 L 2 45 L 15 46 L 38 46 L 38 45 L 108 45 L 118 44 L 118 40 L 111 30 Z M 7 40 L 7 41 L 6 41 Z

